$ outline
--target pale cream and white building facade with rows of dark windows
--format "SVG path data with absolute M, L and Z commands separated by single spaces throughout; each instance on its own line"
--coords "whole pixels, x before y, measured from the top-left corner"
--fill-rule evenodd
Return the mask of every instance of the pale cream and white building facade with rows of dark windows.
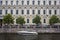
M 33 24 L 33 18 L 39 15 L 46 25 L 52 15 L 60 16 L 60 0 L 0 0 L 0 19 L 7 13 L 15 18 L 14 24 L 19 16 L 25 18 L 25 24 Z

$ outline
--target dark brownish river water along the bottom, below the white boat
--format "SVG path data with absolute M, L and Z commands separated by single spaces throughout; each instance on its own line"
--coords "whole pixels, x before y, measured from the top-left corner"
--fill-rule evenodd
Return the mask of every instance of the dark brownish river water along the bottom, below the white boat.
M 60 33 L 39 33 L 38 35 L 0 33 L 0 40 L 60 40 Z

